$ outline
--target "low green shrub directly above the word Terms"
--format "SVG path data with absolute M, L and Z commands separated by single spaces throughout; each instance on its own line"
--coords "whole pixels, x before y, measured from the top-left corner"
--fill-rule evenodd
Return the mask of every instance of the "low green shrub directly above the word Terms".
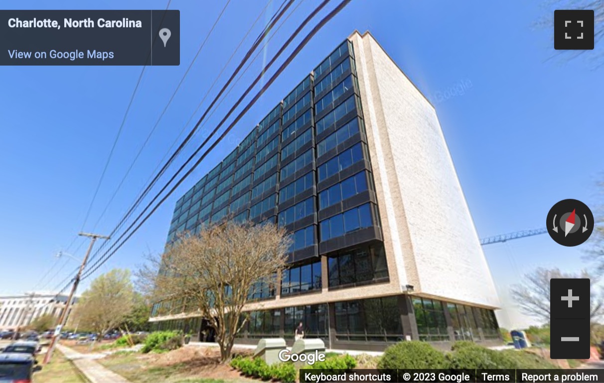
M 477 344 L 462 344 L 446 356 L 451 369 L 516 369 L 516 362 L 501 351 Z

